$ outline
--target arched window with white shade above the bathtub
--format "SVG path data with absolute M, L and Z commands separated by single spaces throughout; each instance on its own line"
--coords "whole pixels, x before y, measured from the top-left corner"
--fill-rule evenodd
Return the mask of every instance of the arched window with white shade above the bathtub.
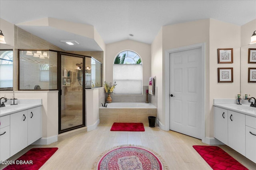
M 142 95 L 142 60 L 134 51 L 122 51 L 113 64 L 114 94 Z

